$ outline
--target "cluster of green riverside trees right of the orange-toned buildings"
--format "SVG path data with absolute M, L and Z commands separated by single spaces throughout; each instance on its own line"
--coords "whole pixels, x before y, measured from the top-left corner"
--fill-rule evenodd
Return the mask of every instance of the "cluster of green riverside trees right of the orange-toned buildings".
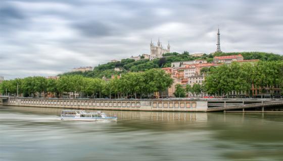
M 283 61 L 259 61 L 257 63 L 237 63 L 221 65 L 208 71 L 204 91 L 210 95 L 225 97 L 234 91 L 252 95 L 252 86 L 261 91 L 266 89 L 274 94 L 274 88 L 283 88 Z

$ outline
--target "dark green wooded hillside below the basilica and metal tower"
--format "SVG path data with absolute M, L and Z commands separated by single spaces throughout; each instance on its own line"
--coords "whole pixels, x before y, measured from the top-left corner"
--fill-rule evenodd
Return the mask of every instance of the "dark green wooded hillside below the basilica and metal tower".
M 66 72 L 61 75 L 83 75 L 86 77 L 95 77 L 95 78 L 102 78 L 103 76 L 105 76 L 107 78 L 110 78 L 111 75 L 119 75 L 122 73 L 126 73 L 128 71 L 138 72 L 152 68 L 170 67 L 171 62 L 174 61 L 204 59 L 207 60 L 208 62 L 212 62 L 214 56 L 238 55 L 238 54 L 242 54 L 245 60 L 260 59 L 263 61 L 272 61 L 272 60 L 283 61 L 283 56 L 273 53 L 266 53 L 266 52 L 230 52 L 230 53 L 220 52 L 213 54 L 204 54 L 202 57 L 194 57 L 191 56 L 187 51 L 184 51 L 182 54 L 179 54 L 177 52 L 166 53 L 163 55 L 164 56 L 163 58 L 158 58 L 154 60 L 141 59 L 134 61 L 133 59 L 122 59 L 121 61 L 118 62 L 108 62 L 106 64 L 100 64 L 96 66 L 93 69 L 93 71 Z M 120 68 L 121 71 L 115 71 L 114 70 L 115 67 Z

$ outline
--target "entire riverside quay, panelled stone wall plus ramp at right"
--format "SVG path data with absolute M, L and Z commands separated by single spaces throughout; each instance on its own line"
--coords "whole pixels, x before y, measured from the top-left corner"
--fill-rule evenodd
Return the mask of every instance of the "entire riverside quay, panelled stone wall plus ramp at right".
M 278 107 L 283 111 L 283 99 L 47 99 L 0 97 L 0 105 L 21 107 L 50 107 L 68 109 L 132 110 L 132 111 L 192 111 L 216 112 Z M 241 111 L 238 111 L 241 112 Z

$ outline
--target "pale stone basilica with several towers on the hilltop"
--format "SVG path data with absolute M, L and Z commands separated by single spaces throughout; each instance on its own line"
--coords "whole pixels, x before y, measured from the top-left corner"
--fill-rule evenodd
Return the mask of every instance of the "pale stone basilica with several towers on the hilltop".
M 170 52 L 170 44 L 168 42 L 167 49 L 164 49 L 162 47 L 162 44 L 159 41 L 159 39 L 158 39 L 158 42 L 157 42 L 157 46 L 155 46 L 151 41 L 150 50 L 151 50 L 151 52 L 150 52 L 150 59 L 151 60 L 156 59 L 156 58 L 161 58 L 161 57 L 163 57 L 162 54 Z

